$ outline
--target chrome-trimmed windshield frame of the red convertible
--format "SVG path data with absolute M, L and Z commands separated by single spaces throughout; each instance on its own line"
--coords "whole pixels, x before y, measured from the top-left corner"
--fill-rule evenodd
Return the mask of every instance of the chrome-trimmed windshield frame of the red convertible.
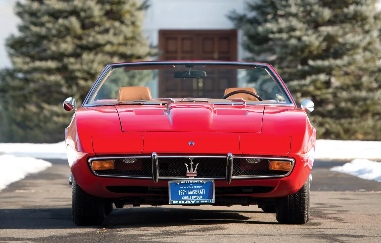
M 264 64 L 260 62 L 245 62 L 245 61 L 141 61 L 141 62 L 121 62 L 107 65 L 104 70 L 101 72 L 97 80 L 94 82 L 91 87 L 89 93 L 87 94 L 85 100 L 82 103 L 81 107 L 94 107 L 94 104 L 87 104 L 90 97 L 96 91 L 98 85 L 103 82 L 105 78 L 108 77 L 110 72 L 115 68 L 123 68 L 123 67 L 131 67 L 131 66 L 157 66 L 157 65 L 186 65 L 186 64 L 195 64 L 195 65 L 237 65 L 237 66 L 255 66 L 255 67 L 263 67 L 269 75 L 272 77 L 274 82 L 277 83 L 280 89 L 283 89 L 284 94 L 290 101 L 290 104 L 284 103 L 275 103 L 275 102 L 247 102 L 247 105 L 269 105 L 269 106 L 291 106 L 297 107 L 295 100 L 291 96 L 290 91 L 287 86 L 283 82 L 282 78 L 280 78 L 279 74 L 275 71 L 274 67 L 269 64 Z M 213 104 L 227 104 L 227 102 L 212 102 Z M 104 104 L 107 105 L 107 104 Z M 115 103 L 109 103 L 110 106 L 116 105 Z M 149 103 L 147 104 L 149 105 Z M 151 104 L 152 105 L 152 104 Z

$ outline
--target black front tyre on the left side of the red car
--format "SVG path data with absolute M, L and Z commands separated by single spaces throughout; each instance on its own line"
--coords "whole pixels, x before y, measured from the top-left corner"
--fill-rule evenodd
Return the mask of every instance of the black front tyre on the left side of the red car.
M 82 190 L 73 177 L 72 220 L 76 225 L 101 225 L 105 217 L 103 198 L 95 197 Z

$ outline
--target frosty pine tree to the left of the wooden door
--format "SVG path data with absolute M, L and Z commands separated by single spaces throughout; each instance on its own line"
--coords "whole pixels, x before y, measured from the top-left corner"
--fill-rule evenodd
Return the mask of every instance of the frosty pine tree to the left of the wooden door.
M 19 34 L 6 42 L 13 67 L 0 75 L 0 140 L 62 141 L 72 116 L 64 99 L 78 106 L 107 64 L 155 54 L 141 31 L 146 8 L 141 0 L 17 2 Z

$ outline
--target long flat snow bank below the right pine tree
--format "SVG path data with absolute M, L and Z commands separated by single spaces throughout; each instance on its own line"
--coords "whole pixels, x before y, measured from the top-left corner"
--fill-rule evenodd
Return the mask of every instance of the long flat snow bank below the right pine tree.
M 381 141 L 316 140 L 315 160 L 381 159 Z

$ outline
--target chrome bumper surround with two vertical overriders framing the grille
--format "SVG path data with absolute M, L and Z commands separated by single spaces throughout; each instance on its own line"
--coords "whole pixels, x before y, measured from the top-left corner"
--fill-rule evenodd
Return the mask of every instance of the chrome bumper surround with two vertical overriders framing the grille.
M 107 174 L 107 175 L 102 175 L 98 174 L 97 171 L 94 171 L 92 168 L 92 161 L 94 160 L 115 160 L 115 159 L 140 159 L 140 158 L 145 158 L 148 159 L 150 158 L 152 160 L 152 177 L 151 176 L 129 176 L 129 175 L 123 175 L 123 174 Z M 195 158 L 226 158 L 226 175 L 224 177 L 197 177 L 194 178 L 192 176 L 189 177 L 172 177 L 172 176 L 160 176 L 159 173 L 159 163 L 158 163 L 158 158 L 189 158 L 191 161 L 194 160 Z M 250 175 L 250 176 L 234 176 L 233 175 L 233 164 L 234 164 L 234 159 L 239 158 L 239 159 L 258 159 L 258 160 L 284 160 L 284 161 L 290 161 L 291 162 L 291 170 L 288 171 L 286 174 L 282 175 Z M 153 152 L 151 156 L 147 155 L 134 155 L 134 156 L 112 156 L 112 157 L 93 157 L 88 160 L 89 166 L 91 171 L 96 175 L 96 176 L 101 176 L 101 177 L 119 177 L 119 178 L 133 178 L 133 179 L 153 179 L 155 183 L 158 182 L 159 179 L 167 179 L 167 180 L 194 180 L 194 179 L 213 179 L 213 180 L 219 180 L 219 179 L 226 179 L 227 184 L 230 184 L 232 179 L 256 179 L 256 178 L 276 178 L 276 177 L 285 177 L 288 176 L 291 171 L 294 168 L 295 165 L 295 160 L 293 158 L 289 157 L 261 157 L 261 156 L 243 156 L 243 155 L 233 155 L 232 153 L 228 153 L 227 155 L 158 155 L 157 153 Z M 191 162 L 192 163 L 192 162 Z M 188 166 L 186 164 L 186 166 Z M 192 166 L 192 165 L 191 165 Z M 197 165 L 196 169 L 197 169 Z M 187 167 L 188 169 L 188 167 Z M 194 172 L 196 172 L 196 169 Z M 190 175 L 192 175 L 193 172 L 193 166 L 191 168 L 192 171 L 188 171 Z M 195 173 L 196 174 L 196 173 Z M 188 174 L 187 174 L 188 176 Z

